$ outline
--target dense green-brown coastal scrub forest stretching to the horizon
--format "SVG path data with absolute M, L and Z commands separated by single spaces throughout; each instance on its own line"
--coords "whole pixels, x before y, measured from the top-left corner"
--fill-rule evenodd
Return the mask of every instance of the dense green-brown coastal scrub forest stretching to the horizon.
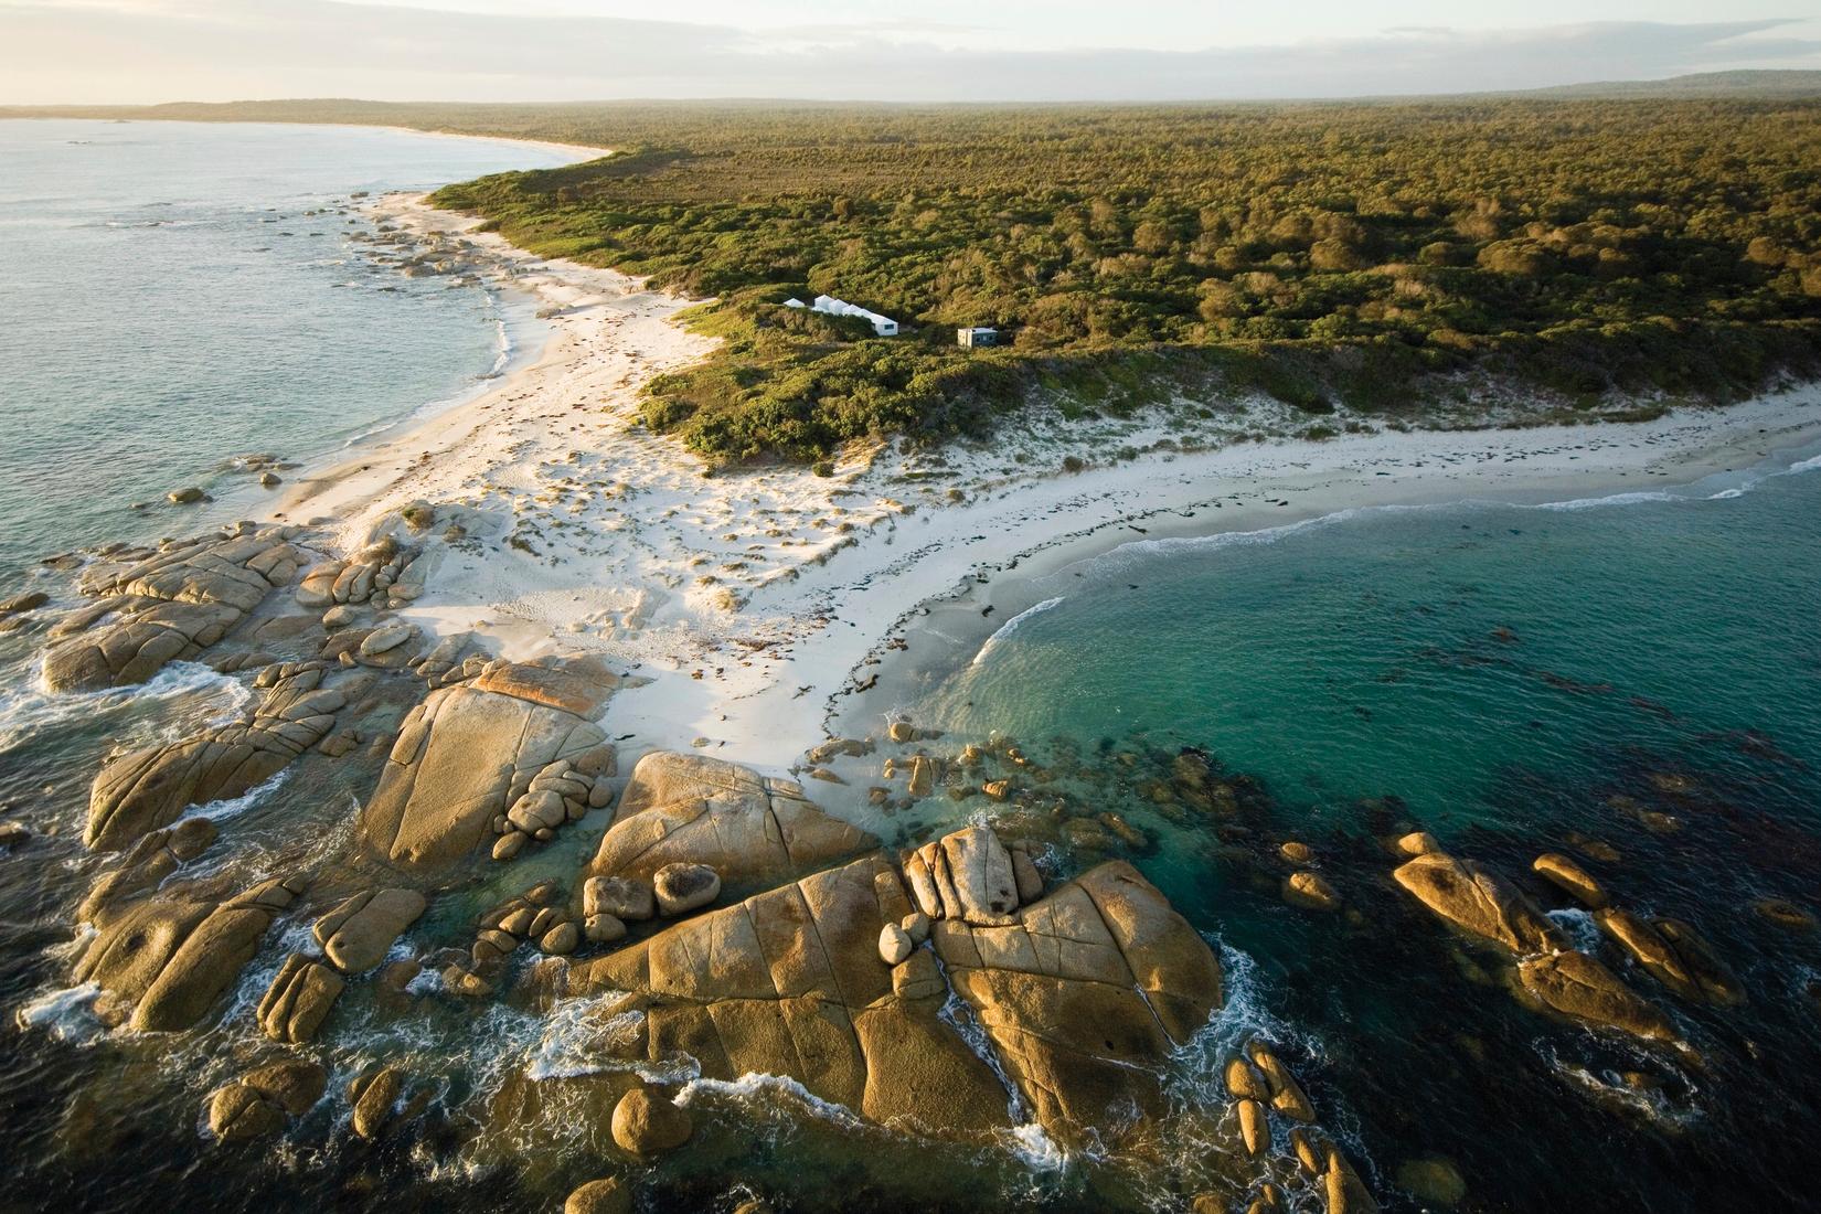
M 721 353 L 646 406 L 714 459 L 978 433 L 1038 386 L 1114 406 L 1260 388 L 1397 413 L 1457 371 L 1592 404 L 1728 399 L 1821 362 L 1817 100 L 233 116 L 619 149 L 437 200 L 539 253 L 717 297 L 697 324 Z M 905 335 L 776 306 L 814 293 Z M 963 324 L 1007 344 L 958 349 Z

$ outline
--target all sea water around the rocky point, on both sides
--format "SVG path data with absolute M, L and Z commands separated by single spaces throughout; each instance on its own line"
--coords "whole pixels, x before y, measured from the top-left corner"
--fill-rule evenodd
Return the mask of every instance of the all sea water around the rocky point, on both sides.
M 362 129 L 0 124 L 0 592 L 62 586 L 35 572 L 47 553 L 257 510 L 235 455 L 320 460 L 497 373 L 535 322 L 479 286 L 368 262 L 344 238 L 364 226 L 350 195 L 554 160 Z M 186 484 L 219 501 L 164 504 Z M 1034 795 L 998 812 L 1067 839 L 1065 863 L 1133 861 L 1218 950 L 1226 1008 L 1171 1059 L 1182 1108 L 1224 1107 L 1220 1065 L 1260 1034 L 1391 1210 L 1442 1209 L 1409 1192 L 1437 1159 L 1468 1210 L 1814 1205 L 1821 937 L 1754 903 L 1814 910 L 1821 888 L 1821 453 L 1655 493 L 1138 541 L 1025 590 L 1040 610 L 996 632 L 976 612 L 978 635 L 881 686 L 947 752 L 1016 746 Z M 0 815 L 36 834 L 0 852 L 0 1205 L 555 1209 L 610 1167 L 588 1008 L 543 1016 L 519 992 L 401 1017 L 357 983 L 308 1050 L 337 1096 L 293 1141 L 204 1141 L 208 1092 L 275 1056 L 249 1005 L 308 946 L 308 917 L 270 934 L 213 1027 L 104 1032 L 93 992 L 69 986 L 73 908 L 107 868 L 78 835 L 109 750 L 226 719 L 248 690 L 178 663 L 142 688 L 49 697 L 40 644 L 0 635 Z M 1229 790 L 1229 812 L 1182 801 L 1184 764 Z M 233 846 L 206 863 L 237 881 L 330 868 L 371 781 L 348 761 L 208 806 Z M 867 812 L 860 786 L 816 792 Z M 940 792 L 890 823 L 921 839 L 983 812 Z M 1526 883 L 1539 852 L 1568 852 L 1619 905 L 1695 925 L 1748 997 L 1688 1005 L 1613 959 L 1688 1056 L 1528 1012 L 1391 885 L 1384 839 L 1406 830 Z M 1344 910 L 1286 905 L 1284 841 L 1311 848 Z M 463 939 L 490 899 L 570 879 L 592 845 L 568 832 L 439 895 L 417 934 Z M 1550 905 L 1599 946 L 1584 912 Z M 339 1090 L 381 1061 L 433 1107 L 370 1145 Z M 1118 1165 L 1042 1136 L 961 1148 L 763 1077 L 699 1099 L 734 1114 L 630 1170 L 641 1209 L 1182 1210 L 1206 1148 L 1189 1134 L 1175 1159 Z M 1193 1178 L 1246 1209 L 1218 1168 Z M 1320 1209 L 1315 1185 L 1287 1196 Z

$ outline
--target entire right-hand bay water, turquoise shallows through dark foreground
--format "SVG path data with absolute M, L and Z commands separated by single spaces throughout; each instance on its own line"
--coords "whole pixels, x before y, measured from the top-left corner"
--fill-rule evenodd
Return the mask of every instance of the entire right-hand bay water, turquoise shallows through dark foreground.
M 1022 590 L 1040 606 L 925 670 L 912 719 L 943 746 L 1016 743 L 1023 808 L 1000 812 L 1038 835 L 1102 812 L 1142 832 L 1107 854 L 1249 957 L 1244 1014 L 1297 1027 L 1298 1074 L 1382 1194 L 1442 1154 L 1471 1209 L 1810 1209 L 1785 1145 L 1821 1132 L 1821 941 L 1752 903 L 1821 910 L 1814 450 L 1664 493 L 1142 541 Z M 1233 777 L 1236 812 L 1175 799 L 1184 752 Z M 1382 839 L 1413 828 L 1597 948 L 1528 874 L 1575 852 L 1619 905 L 1694 923 L 1748 1005 L 1679 1003 L 1602 954 L 1699 1065 L 1521 1010 L 1389 883 Z M 1284 903 L 1286 839 L 1348 914 Z

